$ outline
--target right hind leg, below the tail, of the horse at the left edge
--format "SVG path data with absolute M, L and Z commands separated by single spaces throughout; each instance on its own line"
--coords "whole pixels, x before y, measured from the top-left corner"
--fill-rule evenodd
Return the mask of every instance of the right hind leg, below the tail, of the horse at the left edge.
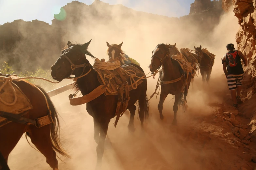
M 28 133 L 31 142 L 36 148 L 45 156 L 46 163 L 54 170 L 58 170 L 58 160 L 56 158 L 56 152 L 52 148 L 51 141 L 51 124 L 37 128 L 30 126 Z

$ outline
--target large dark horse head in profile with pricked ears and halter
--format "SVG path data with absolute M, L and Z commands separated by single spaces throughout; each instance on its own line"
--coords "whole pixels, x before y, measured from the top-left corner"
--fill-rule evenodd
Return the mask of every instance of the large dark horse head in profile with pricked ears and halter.
M 85 54 L 95 57 L 87 50 L 91 40 L 85 44 L 72 44 L 68 41 L 55 64 L 51 67 L 52 78 L 61 81 L 71 75 L 79 76 L 90 69 L 90 62 Z

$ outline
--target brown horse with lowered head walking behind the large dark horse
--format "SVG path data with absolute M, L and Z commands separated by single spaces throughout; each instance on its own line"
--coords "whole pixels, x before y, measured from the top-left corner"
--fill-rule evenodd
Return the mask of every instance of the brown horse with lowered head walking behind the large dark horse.
M 158 104 L 158 110 L 160 113 L 160 119 L 163 119 L 163 102 L 168 94 L 175 95 L 175 102 L 173 106 L 174 111 L 174 119 L 173 124 L 177 124 L 177 111 L 178 111 L 178 104 L 184 104 L 187 98 L 187 93 L 191 81 L 191 75 L 189 74 L 189 77 L 186 78 L 185 76 L 182 76 L 182 70 L 180 65 L 177 61 L 175 61 L 172 57 L 170 57 L 170 51 L 169 47 L 171 47 L 170 44 L 159 44 L 155 48 L 155 50 L 152 51 L 152 58 L 151 63 L 149 66 L 149 70 L 153 73 L 158 68 L 162 66 L 162 72 L 160 72 L 160 80 L 165 81 L 172 81 L 181 78 L 179 81 L 168 83 L 168 84 L 162 84 L 161 83 L 161 94 L 160 94 L 160 100 Z M 183 87 L 185 87 L 184 91 L 182 90 Z

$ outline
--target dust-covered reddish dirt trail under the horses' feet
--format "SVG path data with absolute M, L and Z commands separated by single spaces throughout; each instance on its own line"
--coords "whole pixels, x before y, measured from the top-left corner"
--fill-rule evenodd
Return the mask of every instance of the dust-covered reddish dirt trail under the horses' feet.
M 249 119 L 230 106 L 230 97 L 225 86 L 225 77 L 211 79 L 209 87 L 202 87 L 201 78 L 196 78 L 189 90 L 188 109 L 178 111 L 178 126 L 172 126 L 173 101 L 168 96 L 164 103 L 164 120 L 159 119 L 159 99 L 150 100 L 151 118 L 140 128 L 135 119 L 135 134 L 128 133 L 129 114 L 111 124 L 103 156 L 104 170 L 252 170 L 256 145 L 249 139 Z M 221 88 L 223 87 L 223 88 Z M 53 97 L 61 117 L 61 141 L 72 159 L 59 161 L 60 170 L 94 169 L 96 143 L 93 139 L 93 119 L 85 106 L 69 106 L 67 92 Z M 151 92 L 150 92 L 151 94 Z M 242 126 L 234 127 L 227 112 L 231 112 Z M 223 114 L 224 113 L 224 114 Z M 64 122 L 65 121 L 65 122 Z M 234 134 L 236 134 L 236 137 Z M 243 136 L 244 135 L 244 136 Z M 242 142 L 241 142 L 242 141 Z M 247 144 L 244 144 L 248 142 Z M 22 138 L 9 156 L 11 170 L 50 169 L 43 155 L 32 149 Z M 245 169 L 243 169 L 245 170 Z

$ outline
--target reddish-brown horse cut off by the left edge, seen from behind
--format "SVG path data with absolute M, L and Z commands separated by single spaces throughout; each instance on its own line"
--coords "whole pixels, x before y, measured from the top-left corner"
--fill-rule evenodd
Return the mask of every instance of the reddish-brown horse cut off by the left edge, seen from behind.
M 13 82 L 22 90 L 33 106 L 33 108 L 23 117 L 35 120 L 37 118 L 47 116 L 48 107 L 45 101 L 46 97 L 49 108 L 52 112 L 52 119 L 54 123 L 38 128 L 34 125 L 10 122 L 0 127 L 0 152 L 2 152 L 5 160 L 8 161 L 10 152 L 16 146 L 21 136 L 26 132 L 26 135 L 30 137 L 31 142 L 45 156 L 46 162 L 51 166 L 51 168 L 58 170 L 58 160 L 56 159 L 55 151 L 67 157 L 68 155 L 60 144 L 59 119 L 50 97 L 42 88 L 38 86 L 36 87 L 26 80 Z

